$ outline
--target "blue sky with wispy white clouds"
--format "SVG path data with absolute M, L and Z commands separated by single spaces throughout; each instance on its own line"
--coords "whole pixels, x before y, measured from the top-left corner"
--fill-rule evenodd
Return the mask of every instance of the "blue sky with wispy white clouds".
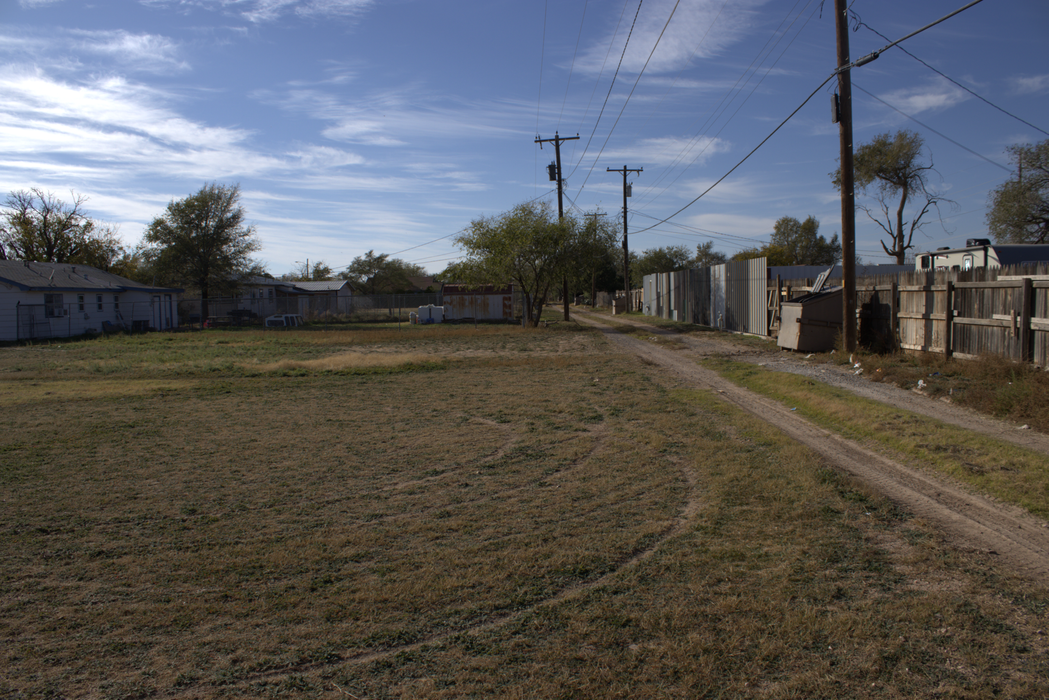
M 856 0 L 852 57 L 963 4 Z M 553 149 L 534 141 L 558 131 L 580 136 L 562 146 L 566 207 L 619 215 L 622 176 L 606 168 L 644 169 L 633 250 L 713 240 L 731 255 L 786 215 L 829 237 L 835 81 L 817 88 L 836 63 L 833 5 L 5 0 L 0 191 L 84 194 L 133 245 L 171 199 L 239 184 L 273 274 L 368 250 L 438 272 L 471 220 L 551 192 Z M 1045 0 L 984 0 L 901 44 L 991 104 L 898 48 L 853 71 L 856 143 L 919 132 L 934 187 L 957 203 L 919 250 L 986 235 L 1006 147 L 1049 137 L 1047 28 Z M 863 260 L 890 261 L 880 238 L 858 212 Z

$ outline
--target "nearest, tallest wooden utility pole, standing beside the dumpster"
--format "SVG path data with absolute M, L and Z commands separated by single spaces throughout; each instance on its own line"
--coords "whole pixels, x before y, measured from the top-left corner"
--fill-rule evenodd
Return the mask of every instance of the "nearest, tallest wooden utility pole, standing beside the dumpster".
M 853 173 L 852 77 L 849 60 L 849 7 L 834 0 L 838 37 L 838 100 L 841 135 L 841 339 L 847 353 L 856 349 L 856 193 Z M 859 62 L 858 62 L 859 63 Z

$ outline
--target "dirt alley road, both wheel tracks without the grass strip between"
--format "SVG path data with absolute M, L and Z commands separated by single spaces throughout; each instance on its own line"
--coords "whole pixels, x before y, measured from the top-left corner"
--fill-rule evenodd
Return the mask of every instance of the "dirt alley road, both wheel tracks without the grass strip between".
M 609 342 L 624 352 L 633 353 L 647 362 L 671 370 L 690 384 L 708 387 L 726 401 L 768 421 L 821 454 L 838 469 L 869 484 L 915 516 L 942 529 L 955 546 L 986 552 L 988 556 L 996 557 L 1002 565 L 1020 575 L 1042 580 L 1049 578 L 1049 527 L 1044 521 L 1031 516 L 1020 508 L 996 503 L 986 496 L 938 479 L 932 473 L 872 452 L 857 443 L 809 423 L 782 404 L 736 386 L 697 364 L 697 360 L 705 355 L 741 355 L 738 346 L 720 341 L 714 336 L 709 339 L 686 338 L 634 319 L 627 321 L 631 325 L 650 331 L 654 336 L 665 335 L 682 340 L 688 347 L 685 352 L 670 351 L 657 343 L 619 333 L 600 316 L 575 311 L 573 315 L 576 320 L 601 330 Z M 733 349 L 735 352 L 732 352 Z M 750 359 L 753 361 L 762 358 Z M 790 370 L 787 367 L 775 366 L 774 356 L 764 359 L 767 361 L 759 362 L 761 364 Z M 834 374 L 836 373 L 830 373 L 826 379 L 833 380 Z M 810 376 L 826 381 L 818 373 Z M 859 382 L 845 379 L 829 383 L 849 384 L 845 388 L 851 388 L 851 385 L 855 384 L 856 388 L 859 388 Z M 866 381 L 863 383 L 874 384 Z M 939 420 L 1006 439 L 1049 454 L 1049 440 L 1045 436 L 1029 430 L 1015 430 L 998 421 L 981 420 L 980 417 L 957 407 L 933 402 L 923 397 L 914 397 L 924 402 L 919 405 L 919 402 L 903 397 L 902 395 L 906 393 L 902 390 L 897 389 L 899 394 L 889 390 L 895 387 L 871 389 L 864 395 L 907 410 L 917 408 L 917 412 L 934 416 Z

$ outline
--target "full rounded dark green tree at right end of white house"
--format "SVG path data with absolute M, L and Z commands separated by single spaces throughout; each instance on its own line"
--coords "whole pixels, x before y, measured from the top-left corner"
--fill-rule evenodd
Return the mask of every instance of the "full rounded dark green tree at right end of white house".
M 199 291 L 201 320 L 213 293 L 232 291 L 236 278 L 263 272 L 251 257 L 260 248 L 255 227 L 244 219 L 240 186 L 212 183 L 172 200 L 143 236 L 143 257 L 159 279 Z

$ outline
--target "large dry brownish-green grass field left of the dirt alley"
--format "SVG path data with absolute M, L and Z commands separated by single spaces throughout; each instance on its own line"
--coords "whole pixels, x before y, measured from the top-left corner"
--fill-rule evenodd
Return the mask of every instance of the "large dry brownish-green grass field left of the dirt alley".
M 0 348 L 4 698 L 1044 697 L 1045 586 L 560 323 Z

